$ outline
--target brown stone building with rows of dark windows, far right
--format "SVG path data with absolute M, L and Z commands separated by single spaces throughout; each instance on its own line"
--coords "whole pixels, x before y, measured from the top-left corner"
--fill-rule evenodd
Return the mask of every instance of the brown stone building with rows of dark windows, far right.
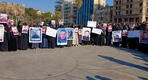
M 148 0 L 114 0 L 113 22 L 148 22 Z

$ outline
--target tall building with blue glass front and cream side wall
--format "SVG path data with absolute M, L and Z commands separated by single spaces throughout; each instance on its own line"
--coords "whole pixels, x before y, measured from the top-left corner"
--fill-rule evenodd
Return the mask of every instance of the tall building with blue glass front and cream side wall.
M 103 15 L 106 0 L 82 0 L 83 5 L 78 13 L 78 24 L 87 25 L 88 20 L 98 21 Z M 98 14 L 101 13 L 102 15 Z

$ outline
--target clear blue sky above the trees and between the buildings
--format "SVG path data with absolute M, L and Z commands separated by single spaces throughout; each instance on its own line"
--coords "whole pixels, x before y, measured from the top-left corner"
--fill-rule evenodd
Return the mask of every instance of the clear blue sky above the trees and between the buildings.
M 55 1 L 57 0 L 0 0 L 4 2 L 13 2 L 18 4 L 24 4 L 27 8 L 34 8 L 44 12 L 54 12 L 55 10 Z M 106 4 L 112 5 L 113 0 L 106 0 Z

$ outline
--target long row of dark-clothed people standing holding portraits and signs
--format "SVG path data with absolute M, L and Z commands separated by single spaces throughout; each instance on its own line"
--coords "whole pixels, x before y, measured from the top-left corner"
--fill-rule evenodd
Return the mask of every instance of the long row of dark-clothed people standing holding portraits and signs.
M 17 51 L 17 50 L 27 50 L 36 48 L 51 48 L 56 47 L 71 47 L 71 46 L 83 46 L 83 45 L 96 45 L 96 46 L 115 46 L 124 47 L 130 49 L 138 49 L 142 51 L 147 51 L 148 44 L 139 43 L 138 38 L 128 38 L 127 36 L 122 36 L 121 42 L 112 41 L 112 31 L 118 30 L 144 30 L 148 31 L 148 24 L 144 23 L 97 23 L 97 29 L 101 29 L 101 34 L 90 33 L 90 39 L 86 37 L 85 40 L 82 39 L 82 29 L 87 26 L 81 25 L 60 25 L 52 26 L 51 24 L 41 25 L 37 24 L 20 24 L 17 25 L 19 35 L 13 35 L 12 27 L 15 25 L 8 25 L 6 23 L 1 23 L 4 25 L 4 42 L 0 43 L 0 51 Z M 42 43 L 29 43 L 29 32 L 27 34 L 22 33 L 22 26 L 28 25 L 29 27 L 42 27 L 50 26 L 53 29 L 58 28 L 77 28 L 78 31 L 74 32 L 74 39 L 68 40 L 67 45 L 59 46 L 57 45 L 57 37 L 51 37 L 46 34 L 42 34 Z M 93 28 L 91 28 L 92 30 Z

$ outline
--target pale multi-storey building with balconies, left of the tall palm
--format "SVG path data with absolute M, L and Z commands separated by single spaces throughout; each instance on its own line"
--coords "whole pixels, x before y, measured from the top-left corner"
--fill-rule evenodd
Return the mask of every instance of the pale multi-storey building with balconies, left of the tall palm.
M 76 24 L 77 20 L 77 6 L 75 1 L 58 0 L 55 6 L 56 11 L 62 13 L 62 20 L 65 25 Z

